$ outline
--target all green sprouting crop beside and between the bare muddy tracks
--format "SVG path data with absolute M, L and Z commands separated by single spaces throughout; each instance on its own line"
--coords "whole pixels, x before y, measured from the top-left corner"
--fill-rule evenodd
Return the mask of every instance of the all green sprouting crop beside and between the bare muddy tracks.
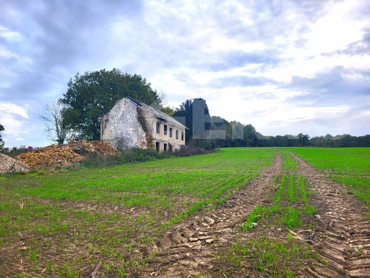
M 138 277 L 135 271 L 157 258 L 151 247 L 166 231 L 238 196 L 280 153 L 279 173 L 263 192 L 268 203 L 252 208 L 239 225 L 249 236 L 259 227 L 258 236 L 240 236 L 215 260 L 245 273 L 248 257 L 250 270 L 269 269 L 271 277 L 294 277 L 302 260 L 325 264 L 289 234 L 312 229 L 317 210 L 310 181 L 289 152 L 369 205 L 370 148 L 225 148 L 108 168 L 0 175 L 0 277 L 89 277 L 98 262 L 101 277 Z M 212 277 L 225 277 L 222 271 Z

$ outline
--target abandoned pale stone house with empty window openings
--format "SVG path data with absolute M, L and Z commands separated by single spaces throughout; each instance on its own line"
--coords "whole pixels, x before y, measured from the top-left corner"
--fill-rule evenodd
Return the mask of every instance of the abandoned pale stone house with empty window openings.
M 100 140 L 117 148 L 174 151 L 185 145 L 186 129 L 166 113 L 132 97 L 125 97 L 102 116 Z

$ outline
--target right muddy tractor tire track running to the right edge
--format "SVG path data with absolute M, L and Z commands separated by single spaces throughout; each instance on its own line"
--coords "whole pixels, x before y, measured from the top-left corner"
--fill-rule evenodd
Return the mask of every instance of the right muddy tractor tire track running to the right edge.
M 328 181 L 323 173 L 312 168 L 293 153 L 299 172 L 312 182 L 313 191 L 322 203 L 316 214 L 324 248 L 320 255 L 327 266 L 317 263 L 309 269 L 312 277 L 370 277 L 370 225 L 364 215 L 366 204 L 338 182 Z

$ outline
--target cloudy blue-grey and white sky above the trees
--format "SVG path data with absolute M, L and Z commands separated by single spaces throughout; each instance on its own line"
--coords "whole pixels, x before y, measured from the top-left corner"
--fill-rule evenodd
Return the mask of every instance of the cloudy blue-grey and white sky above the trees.
M 369 1 L 3 0 L 6 146 L 48 145 L 45 105 L 113 67 L 263 135 L 370 133 Z

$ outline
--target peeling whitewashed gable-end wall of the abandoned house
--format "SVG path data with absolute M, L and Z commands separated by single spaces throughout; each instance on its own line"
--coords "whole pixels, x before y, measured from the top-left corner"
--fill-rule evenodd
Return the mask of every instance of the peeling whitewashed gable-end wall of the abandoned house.
M 137 106 L 122 99 L 109 112 L 110 141 L 118 148 L 147 148 L 145 131 L 138 120 Z

